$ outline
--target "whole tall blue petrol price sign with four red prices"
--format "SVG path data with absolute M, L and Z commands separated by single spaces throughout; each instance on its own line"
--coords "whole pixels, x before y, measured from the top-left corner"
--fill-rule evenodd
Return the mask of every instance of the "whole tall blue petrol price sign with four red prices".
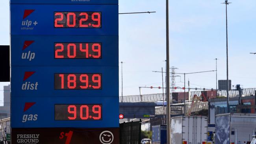
M 10 4 L 12 143 L 117 144 L 118 1 Z

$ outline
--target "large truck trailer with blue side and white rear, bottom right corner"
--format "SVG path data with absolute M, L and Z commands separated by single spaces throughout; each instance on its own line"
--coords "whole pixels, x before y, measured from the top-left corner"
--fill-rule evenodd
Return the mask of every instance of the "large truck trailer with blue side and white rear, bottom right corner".
M 256 131 L 256 114 L 218 114 L 215 144 L 250 144 Z

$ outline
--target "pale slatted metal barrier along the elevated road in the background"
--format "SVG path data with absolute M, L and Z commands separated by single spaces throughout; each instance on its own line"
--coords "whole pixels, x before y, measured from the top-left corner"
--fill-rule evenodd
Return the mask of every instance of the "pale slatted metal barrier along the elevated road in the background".
M 243 89 L 243 96 L 250 96 L 254 95 L 256 88 L 249 88 Z M 200 96 L 202 91 L 191 91 L 190 94 L 193 96 L 197 94 Z M 218 90 L 220 96 L 226 96 L 226 90 Z M 238 90 L 230 90 L 229 91 L 230 97 L 237 97 L 239 96 Z M 172 98 L 172 94 L 171 94 Z M 157 102 L 166 99 L 165 94 L 142 94 L 142 95 L 132 95 L 132 96 L 123 96 L 123 102 Z M 192 99 L 192 98 L 191 98 Z M 119 97 L 119 102 L 122 102 L 122 98 Z

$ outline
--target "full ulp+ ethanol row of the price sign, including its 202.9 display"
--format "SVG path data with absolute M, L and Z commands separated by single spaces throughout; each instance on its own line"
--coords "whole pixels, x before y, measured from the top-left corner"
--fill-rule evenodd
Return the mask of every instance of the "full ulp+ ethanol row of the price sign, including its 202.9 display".
M 118 5 L 12 4 L 12 35 L 118 35 Z

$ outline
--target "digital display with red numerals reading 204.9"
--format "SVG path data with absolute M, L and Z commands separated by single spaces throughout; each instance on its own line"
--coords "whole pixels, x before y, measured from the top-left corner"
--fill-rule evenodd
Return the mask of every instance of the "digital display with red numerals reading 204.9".
M 56 59 L 101 59 L 101 43 L 54 43 Z

